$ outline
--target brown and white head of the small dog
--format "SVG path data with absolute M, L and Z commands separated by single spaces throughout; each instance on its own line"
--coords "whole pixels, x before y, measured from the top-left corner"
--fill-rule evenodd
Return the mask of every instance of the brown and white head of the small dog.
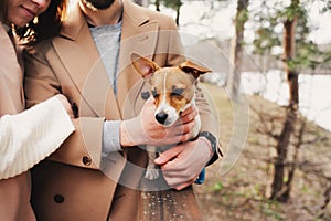
M 138 73 L 151 85 L 156 99 L 156 119 L 164 125 L 172 125 L 194 99 L 194 81 L 210 70 L 185 61 L 179 66 L 160 67 L 149 59 L 132 54 L 132 64 Z

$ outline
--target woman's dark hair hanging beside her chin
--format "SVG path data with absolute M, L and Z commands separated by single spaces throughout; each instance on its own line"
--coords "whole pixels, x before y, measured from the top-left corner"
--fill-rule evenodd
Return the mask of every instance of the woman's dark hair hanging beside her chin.
M 45 12 L 23 28 L 14 27 L 24 44 L 33 44 L 58 34 L 65 18 L 67 0 L 51 0 Z

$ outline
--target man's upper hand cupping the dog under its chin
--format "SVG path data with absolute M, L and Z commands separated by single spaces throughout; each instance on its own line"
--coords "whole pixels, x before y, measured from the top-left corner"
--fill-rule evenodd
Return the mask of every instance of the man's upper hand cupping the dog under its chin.
M 194 117 L 197 115 L 195 107 L 188 107 L 169 127 L 156 120 L 154 112 L 154 99 L 151 97 L 137 117 L 121 123 L 120 143 L 122 146 L 162 146 L 186 141 L 190 138 L 190 131 L 195 126 Z

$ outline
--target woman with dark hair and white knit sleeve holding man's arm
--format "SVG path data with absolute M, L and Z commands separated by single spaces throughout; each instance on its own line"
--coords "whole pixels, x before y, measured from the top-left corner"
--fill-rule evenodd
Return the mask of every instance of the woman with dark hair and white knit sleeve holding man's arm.
M 29 169 L 55 151 L 74 130 L 65 97 L 53 97 L 24 110 L 24 65 L 12 33 L 14 29 L 17 36 L 28 42 L 51 36 L 61 27 L 65 3 L 0 0 L 0 220 L 36 220 L 30 203 Z M 31 22 L 35 17 L 36 24 Z

